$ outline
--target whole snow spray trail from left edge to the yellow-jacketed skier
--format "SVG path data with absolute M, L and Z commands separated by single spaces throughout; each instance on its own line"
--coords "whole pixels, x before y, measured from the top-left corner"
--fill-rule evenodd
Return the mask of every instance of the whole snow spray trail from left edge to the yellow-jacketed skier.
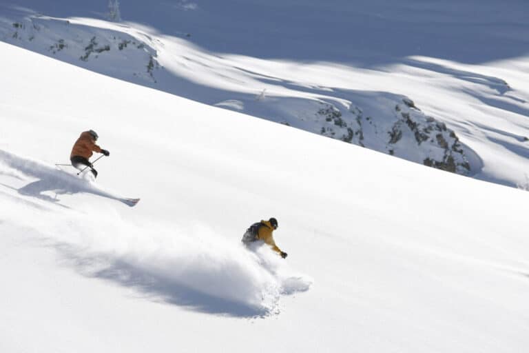
M 9 170 L 0 165 L 0 172 L 34 174 L 32 164 L 22 171 L 10 165 Z M 65 263 L 149 300 L 212 314 L 266 316 L 278 312 L 281 294 L 308 290 L 312 282 L 271 250 L 248 251 L 238 239 L 226 239 L 200 223 L 124 219 L 113 203 L 85 203 L 79 212 L 0 197 L 8 221 L 37 231 L 39 241 L 55 248 Z

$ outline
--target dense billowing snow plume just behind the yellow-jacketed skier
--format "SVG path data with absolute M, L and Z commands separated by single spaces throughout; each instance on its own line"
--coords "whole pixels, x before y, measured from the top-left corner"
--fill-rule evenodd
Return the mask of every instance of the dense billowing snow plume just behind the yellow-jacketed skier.
M 58 248 L 87 276 L 132 287 L 155 301 L 218 314 L 268 314 L 278 303 L 280 280 L 246 250 L 200 225 L 130 223 L 110 212 L 106 219 L 98 215 L 97 224 L 75 228 L 61 231 L 69 239 L 61 239 Z

